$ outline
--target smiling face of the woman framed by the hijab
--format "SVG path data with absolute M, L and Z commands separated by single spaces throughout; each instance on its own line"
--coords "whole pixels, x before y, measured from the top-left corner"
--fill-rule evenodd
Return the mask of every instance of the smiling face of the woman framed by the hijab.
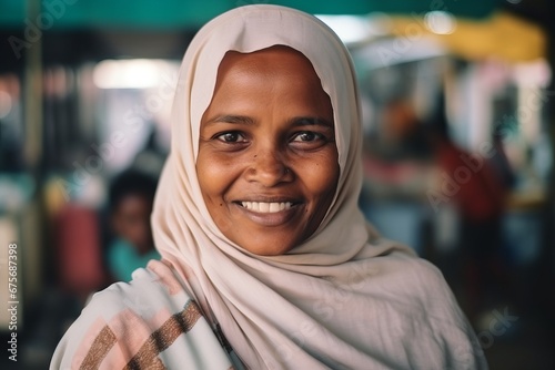
M 201 121 L 196 173 L 216 226 L 244 249 L 281 255 L 314 233 L 340 167 L 332 104 L 303 54 L 226 53 Z

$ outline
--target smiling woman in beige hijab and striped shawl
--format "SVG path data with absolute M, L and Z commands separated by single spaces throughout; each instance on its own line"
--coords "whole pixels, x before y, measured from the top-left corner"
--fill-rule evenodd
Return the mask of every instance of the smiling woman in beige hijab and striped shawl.
M 162 261 L 98 294 L 53 369 L 486 367 L 441 274 L 357 209 L 354 71 L 327 27 L 275 6 L 218 17 L 172 120 Z

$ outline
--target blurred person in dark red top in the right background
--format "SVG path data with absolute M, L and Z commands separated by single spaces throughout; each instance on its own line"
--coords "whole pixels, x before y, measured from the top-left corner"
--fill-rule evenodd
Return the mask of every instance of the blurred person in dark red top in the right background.
M 456 206 L 463 308 L 475 322 L 481 312 L 506 301 L 511 291 L 502 256 L 502 217 L 512 186 L 511 168 L 501 162 L 503 153 L 496 153 L 500 147 L 494 142 L 480 154 L 456 145 L 443 113 L 430 126 L 430 143 L 438 176 L 436 197 L 428 201 Z

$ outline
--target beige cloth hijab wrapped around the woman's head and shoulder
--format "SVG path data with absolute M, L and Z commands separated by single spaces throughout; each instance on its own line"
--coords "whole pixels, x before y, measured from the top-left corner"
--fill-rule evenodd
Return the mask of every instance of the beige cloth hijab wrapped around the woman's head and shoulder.
M 330 95 L 341 176 L 320 228 L 285 255 L 261 257 L 218 229 L 196 178 L 201 116 L 229 50 L 302 52 Z M 471 331 L 441 275 L 379 239 L 357 208 L 361 122 L 347 51 L 316 18 L 248 6 L 191 42 L 172 113 L 172 148 L 152 217 L 157 247 L 252 369 L 441 369 L 474 364 Z M 451 360 L 450 360 L 451 358 Z M 451 362 L 450 362 L 451 361 Z

